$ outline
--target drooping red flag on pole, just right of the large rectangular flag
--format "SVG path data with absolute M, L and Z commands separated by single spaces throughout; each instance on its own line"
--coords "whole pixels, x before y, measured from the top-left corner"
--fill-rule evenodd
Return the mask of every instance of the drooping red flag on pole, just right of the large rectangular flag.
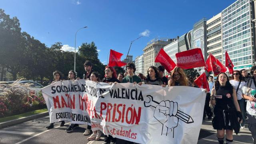
M 216 75 L 220 74 L 221 72 L 227 71 L 226 67 L 223 66 L 223 64 L 212 54 L 210 54 L 207 58 L 204 69 L 207 72 L 213 71 Z

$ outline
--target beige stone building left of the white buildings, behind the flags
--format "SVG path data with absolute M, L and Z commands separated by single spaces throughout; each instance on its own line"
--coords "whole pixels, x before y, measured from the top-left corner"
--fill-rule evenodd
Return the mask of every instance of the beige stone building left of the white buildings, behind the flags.
M 147 75 L 147 70 L 150 66 L 160 66 L 159 62 L 154 62 L 156 55 L 161 48 L 171 43 L 171 39 L 168 38 L 154 38 L 148 42 L 147 46 L 143 49 L 144 57 L 144 75 Z

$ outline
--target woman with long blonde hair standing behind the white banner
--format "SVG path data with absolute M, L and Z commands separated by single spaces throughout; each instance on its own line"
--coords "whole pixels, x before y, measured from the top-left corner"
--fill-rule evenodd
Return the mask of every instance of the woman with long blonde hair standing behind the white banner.
M 176 67 L 172 70 L 172 78 L 168 80 L 168 86 L 188 86 L 186 74 L 180 67 Z

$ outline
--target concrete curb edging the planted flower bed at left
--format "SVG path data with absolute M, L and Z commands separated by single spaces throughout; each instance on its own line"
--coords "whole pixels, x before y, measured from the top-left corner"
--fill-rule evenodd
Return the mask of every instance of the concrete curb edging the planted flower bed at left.
M 42 112 L 40 114 L 34 114 L 34 115 L 31 115 L 31 116 L 27 116 L 27 117 L 24 117 L 24 118 L 18 118 L 16 120 L 9 120 L 7 122 L 1 122 L 0 123 L 0 128 L 4 128 L 4 127 L 7 127 L 7 126 L 12 126 L 14 124 L 19 124 L 19 123 L 22 123 L 22 122 L 26 122 L 26 121 L 29 121 L 29 120 L 34 120 L 36 118 L 40 118 L 40 117 L 43 117 L 43 116 L 48 116 L 49 115 L 49 112 Z

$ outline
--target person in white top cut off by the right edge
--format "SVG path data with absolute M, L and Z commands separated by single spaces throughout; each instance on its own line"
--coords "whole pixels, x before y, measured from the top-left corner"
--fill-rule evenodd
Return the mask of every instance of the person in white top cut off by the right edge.
M 252 139 L 256 144 L 256 66 L 251 68 L 250 72 L 253 77 L 246 82 L 242 88 L 242 96 L 247 101 L 246 111 L 248 116 L 248 128 L 252 133 Z

